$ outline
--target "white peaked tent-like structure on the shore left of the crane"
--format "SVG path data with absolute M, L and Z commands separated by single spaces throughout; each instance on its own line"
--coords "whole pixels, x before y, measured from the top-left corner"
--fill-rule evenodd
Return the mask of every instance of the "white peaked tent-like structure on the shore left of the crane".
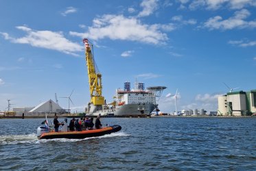
M 32 110 L 28 111 L 29 114 L 45 114 L 45 113 L 60 113 L 65 111 L 65 109 L 62 109 L 60 105 L 52 101 L 51 99 L 49 101 L 45 101 L 43 103 L 40 103 L 36 107 L 34 107 Z

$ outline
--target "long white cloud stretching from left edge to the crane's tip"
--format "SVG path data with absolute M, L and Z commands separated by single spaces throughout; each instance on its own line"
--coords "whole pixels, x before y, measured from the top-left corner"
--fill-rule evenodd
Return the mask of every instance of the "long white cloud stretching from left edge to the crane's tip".
M 0 34 L 3 35 L 5 40 L 10 40 L 13 43 L 30 44 L 32 47 L 56 50 L 76 56 L 75 52 L 82 51 L 83 49 L 80 44 L 67 40 L 62 32 L 37 31 L 25 26 L 18 26 L 16 28 L 25 31 L 27 35 L 22 38 L 12 38 L 7 33 L 0 32 Z

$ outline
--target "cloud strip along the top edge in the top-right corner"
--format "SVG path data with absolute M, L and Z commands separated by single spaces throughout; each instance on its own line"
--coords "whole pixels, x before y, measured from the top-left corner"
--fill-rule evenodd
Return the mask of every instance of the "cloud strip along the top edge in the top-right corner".
M 195 0 L 195 1 L 191 1 L 191 3 L 189 4 L 189 9 L 196 10 L 198 8 L 206 8 L 207 10 L 218 10 L 219 8 L 222 8 L 222 7 L 231 8 L 231 9 L 242 9 L 246 6 L 256 6 L 256 1 L 255 0 Z

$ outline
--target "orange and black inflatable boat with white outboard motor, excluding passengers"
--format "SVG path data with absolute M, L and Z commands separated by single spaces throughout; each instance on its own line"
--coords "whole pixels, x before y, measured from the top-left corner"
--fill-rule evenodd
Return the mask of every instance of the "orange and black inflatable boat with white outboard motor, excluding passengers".
M 84 139 L 86 137 L 98 137 L 110 133 L 115 133 L 121 130 L 121 126 L 115 124 L 110 127 L 103 127 L 101 129 L 91 129 L 85 131 L 50 131 L 49 127 L 38 127 L 38 139 L 54 139 L 54 138 L 69 138 L 69 139 Z

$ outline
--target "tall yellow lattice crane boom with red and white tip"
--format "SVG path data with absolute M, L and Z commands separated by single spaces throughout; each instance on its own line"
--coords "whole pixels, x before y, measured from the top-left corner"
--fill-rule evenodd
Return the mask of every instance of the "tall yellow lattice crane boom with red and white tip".
M 102 75 L 100 73 L 96 73 L 95 70 L 95 61 L 93 59 L 93 53 L 91 52 L 93 47 L 89 44 L 88 39 L 84 38 L 83 42 L 88 71 L 91 103 L 93 103 L 93 105 L 104 105 L 104 96 L 102 96 Z

